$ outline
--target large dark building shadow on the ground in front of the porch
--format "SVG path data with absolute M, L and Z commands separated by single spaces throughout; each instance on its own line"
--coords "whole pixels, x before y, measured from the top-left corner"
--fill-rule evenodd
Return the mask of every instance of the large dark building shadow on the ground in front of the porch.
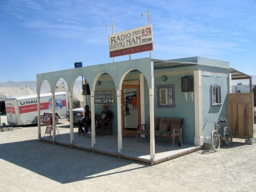
M 150 166 L 148 163 L 129 159 L 120 161 L 110 155 L 41 142 L 39 139 L 0 144 L 0 148 L 1 159 L 62 184 Z M 118 171 L 119 167 L 130 164 L 140 166 Z

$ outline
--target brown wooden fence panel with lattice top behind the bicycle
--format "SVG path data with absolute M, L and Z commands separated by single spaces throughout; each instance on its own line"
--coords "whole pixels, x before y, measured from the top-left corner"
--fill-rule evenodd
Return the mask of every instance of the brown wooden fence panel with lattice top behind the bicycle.
M 233 137 L 253 138 L 253 94 L 227 94 L 227 122 Z

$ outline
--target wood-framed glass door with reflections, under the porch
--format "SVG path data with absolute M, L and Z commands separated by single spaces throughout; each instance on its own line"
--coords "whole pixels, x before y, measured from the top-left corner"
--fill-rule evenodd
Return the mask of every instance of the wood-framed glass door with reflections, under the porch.
M 122 135 L 137 137 L 137 125 L 140 124 L 140 89 L 139 85 L 123 85 Z

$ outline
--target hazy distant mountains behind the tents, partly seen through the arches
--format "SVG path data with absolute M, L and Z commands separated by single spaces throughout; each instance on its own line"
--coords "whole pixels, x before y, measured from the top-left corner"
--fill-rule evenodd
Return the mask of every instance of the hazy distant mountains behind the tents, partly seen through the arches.
M 61 84 L 62 82 L 63 81 L 59 81 L 57 83 L 57 86 L 59 84 Z M 0 83 L 0 87 L 23 87 L 23 86 L 27 86 L 31 90 L 37 92 L 37 82 L 35 82 L 35 81 L 22 81 L 22 82 L 7 81 L 4 83 Z M 77 92 L 77 93 L 82 93 L 82 81 L 81 80 L 75 82 L 73 91 Z M 48 82 L 44 81 L 40 92 L 41 93 L 50 92 L 50 86 L 49 86 Z

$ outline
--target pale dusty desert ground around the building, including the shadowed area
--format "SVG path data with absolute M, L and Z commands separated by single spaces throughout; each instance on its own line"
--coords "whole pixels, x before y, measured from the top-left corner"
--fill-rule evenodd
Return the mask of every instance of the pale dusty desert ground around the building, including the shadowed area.
M 42 142 L 27 126 L 0 132 L 0 191 L 255 191 L 255 159 L 256 144 L 235 140 L 150 166 Z

